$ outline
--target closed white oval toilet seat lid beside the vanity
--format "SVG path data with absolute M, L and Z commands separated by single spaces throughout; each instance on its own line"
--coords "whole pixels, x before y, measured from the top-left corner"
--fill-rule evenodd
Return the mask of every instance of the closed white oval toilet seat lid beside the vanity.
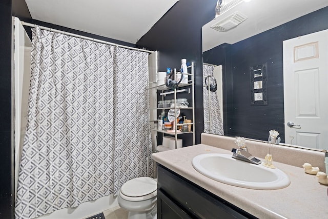
M 121 193 L 130 197 L 148 195 L 157 189 L 156 181 L 151 177 L 138 177 L 126 182 L 121 187 Z

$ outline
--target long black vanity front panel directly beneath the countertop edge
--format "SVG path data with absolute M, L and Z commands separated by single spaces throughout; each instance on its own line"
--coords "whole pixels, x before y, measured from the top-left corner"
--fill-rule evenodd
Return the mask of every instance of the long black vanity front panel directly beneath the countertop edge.
M 159 164 L 157 165 L 157 188 L 157 191 L 164 193 L 176 206 L 185 209 L 191 218 L 256 218 Z

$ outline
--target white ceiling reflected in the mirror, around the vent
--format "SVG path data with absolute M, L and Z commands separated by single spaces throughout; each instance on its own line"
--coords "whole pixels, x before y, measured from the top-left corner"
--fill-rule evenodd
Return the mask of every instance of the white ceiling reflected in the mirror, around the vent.
M 233 0 L 226 0 L 226 4 Z M 203 52 L 223 43 L 234 44 L 245 38 L 272 29 L 305 14 L 328 6 L 328 0 L 252 0 L 242 2 L 233 8 L 224 11 L 213 21 L 204 25 Z M 239 11 L 248 17 L 243 23 L 227 32 L 219 32 L 211 28 Z M 268 42 L 269 43 L 269 42 Z

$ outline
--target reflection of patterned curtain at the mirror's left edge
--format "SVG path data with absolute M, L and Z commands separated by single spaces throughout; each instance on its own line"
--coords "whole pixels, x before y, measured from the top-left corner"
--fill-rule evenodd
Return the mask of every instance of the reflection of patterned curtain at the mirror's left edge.
M 205 78 L 212 75 L 214 66 L 203 64 L 203 107 L 204 107 L 204 132 L 223 135 L 223 122 L 220 113 L 220 104 L 217 92 L 209 92 L 206 88 Z M 207 82 L 212 82 L 208 80 Z M 209 98 L 210 93 L 210 98 Z M 211 109 L 211 111 L 210 111 Z

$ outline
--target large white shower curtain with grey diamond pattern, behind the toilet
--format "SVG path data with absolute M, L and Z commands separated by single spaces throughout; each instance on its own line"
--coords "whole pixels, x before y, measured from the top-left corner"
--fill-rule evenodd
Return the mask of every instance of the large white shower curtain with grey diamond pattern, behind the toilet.
M 35 28 L 31 55 L 15 217 L 116 195 L 147 176 L 148 53 Z

